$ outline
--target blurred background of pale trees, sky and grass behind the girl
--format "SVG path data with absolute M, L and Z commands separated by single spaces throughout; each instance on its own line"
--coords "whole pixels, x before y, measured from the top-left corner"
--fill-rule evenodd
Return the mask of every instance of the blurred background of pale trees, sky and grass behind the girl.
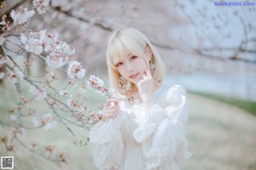
M 31 4 L 26 0 L 6 3 L 1 16 Z M 216 6 L 212 0 L 51 0 L 47 13 L 34 17 L 29 28 L 58 33 L 62 41 L 76 49 L 75 55 L 88 74 L 101 77 L 106 83 L 105 58 L 111 32 L 125 27 L 142 31 L 166 63 L 165 82 L 181 84 L 189 93 L 187 135 L 193 156 L 184 162 L 183 169 L 253 170 L 256 169 L 255 17 L 255 0 L 247 1 L 246 6 Z M 42 68 L 38 65 L 34 71 L 40 72 Z M 1 92 L 6 90 L 3 88 Z M 5 113 L 3 108 L 0 111 Z M 61 127 L 57 129 L 61 132 Z M 91 159 L 93 144 L 74 146 L 72 137 L 56 133 L 57 129 L 54 135 L 47 134 L 47 138 L 58 139 L 60 147 L 67 150 L 71 160 L 68 165 L 52 165 L 26 153 L 17 156 L 16 169 L 30 166 L 49 169 L 42 162 L 54 169 L 95 169 Z M 31 157 L 36 161 L 29 161 Z

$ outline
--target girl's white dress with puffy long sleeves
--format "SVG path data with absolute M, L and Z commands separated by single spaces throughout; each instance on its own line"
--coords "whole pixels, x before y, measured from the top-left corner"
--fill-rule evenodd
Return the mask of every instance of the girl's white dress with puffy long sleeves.
M 184 125 L 189 114 L 185 90 L 162 85 L 155 104 L 145 113 L 142 104 L 120 100 L 121 113 L 90 130 L 96 167 L 101 170 L 178 170 L 189 158 Z

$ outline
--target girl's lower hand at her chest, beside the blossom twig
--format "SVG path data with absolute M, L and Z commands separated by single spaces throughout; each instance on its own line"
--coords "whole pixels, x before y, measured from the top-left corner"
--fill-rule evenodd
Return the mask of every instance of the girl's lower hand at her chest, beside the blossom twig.
M 120 113 L 118 99 L 108 99 L 106 107 L 104 109 L 104 116 L 106 119 L 115 118 Z

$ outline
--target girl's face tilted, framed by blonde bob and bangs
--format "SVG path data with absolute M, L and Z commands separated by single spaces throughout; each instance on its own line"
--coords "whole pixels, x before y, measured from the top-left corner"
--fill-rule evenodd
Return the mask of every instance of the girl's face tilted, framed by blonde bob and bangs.
M 137 84 L 142 79 L 143 72 L 148 68 L 148 59 L 137 57 L 131 53 L 125 53 L 125 57 L 115 64 L 119 74 L 127 81 Z

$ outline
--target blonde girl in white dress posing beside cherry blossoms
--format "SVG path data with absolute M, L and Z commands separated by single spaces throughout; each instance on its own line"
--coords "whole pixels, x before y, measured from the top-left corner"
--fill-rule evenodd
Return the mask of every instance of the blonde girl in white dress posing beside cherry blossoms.
M 99 169 L 177 170 L 189 157 L 184 125 L 187 97 L 179 85 L 163 84 L 164 64 L 140 31 L 114 31 L 108 41 L 108 75 L 117 99 L 108 99 L 90 130 Z

